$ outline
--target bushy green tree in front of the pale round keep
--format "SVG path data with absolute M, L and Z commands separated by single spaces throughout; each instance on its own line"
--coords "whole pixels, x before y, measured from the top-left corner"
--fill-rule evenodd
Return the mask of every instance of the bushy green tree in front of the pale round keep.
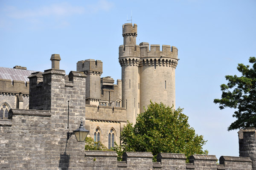
M 185 153 L 187 158 L 192 154 L 207 154 L 207 150 L 202 150 L 207 141 L 195 134 L 182 110 L 151 102 L 148 109 L 138 115 L 134 127 L 131 123 L 124 127 L 121 146 L 115 150 L 151 152 L 154 161 L 160 152 Z

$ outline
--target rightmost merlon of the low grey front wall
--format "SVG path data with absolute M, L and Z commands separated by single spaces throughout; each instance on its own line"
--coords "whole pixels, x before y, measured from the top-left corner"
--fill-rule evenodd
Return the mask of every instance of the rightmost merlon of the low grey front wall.
M 251 170 L 252 161 L 248 157 L 221 156 L 220 164 L 225 170 Z

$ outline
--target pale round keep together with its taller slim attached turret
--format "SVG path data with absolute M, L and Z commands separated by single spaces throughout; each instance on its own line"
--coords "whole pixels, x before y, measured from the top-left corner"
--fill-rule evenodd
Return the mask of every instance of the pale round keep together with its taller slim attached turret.
M 152 102 L 175 108 L 175 68 L 178 50 L 174 46 L 136 45 L 137 25 L 122 26 L 124 45 L 119 46 L 122 67 L 122 107 L 127 119 L 135 123 L 139 113 Z

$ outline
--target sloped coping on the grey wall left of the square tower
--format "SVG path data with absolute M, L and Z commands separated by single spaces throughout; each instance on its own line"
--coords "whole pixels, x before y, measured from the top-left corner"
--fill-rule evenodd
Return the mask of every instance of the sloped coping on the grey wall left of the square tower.
M 52 114 L 50 111 L 42 110 L 27 110 L 27 109 L 10 109 L 10 114 L 12 115 L 23 115 L 23 116 L 43 116 L 50 117 Z

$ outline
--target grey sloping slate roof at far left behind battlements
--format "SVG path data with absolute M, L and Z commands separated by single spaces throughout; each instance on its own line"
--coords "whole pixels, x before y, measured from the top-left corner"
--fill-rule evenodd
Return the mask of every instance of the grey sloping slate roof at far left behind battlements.
M 0 79 L 10 79 L 10 80 L 29 82 L 28 77 L 33 72 L 36 72 L 36 71 L 0 67 Z

